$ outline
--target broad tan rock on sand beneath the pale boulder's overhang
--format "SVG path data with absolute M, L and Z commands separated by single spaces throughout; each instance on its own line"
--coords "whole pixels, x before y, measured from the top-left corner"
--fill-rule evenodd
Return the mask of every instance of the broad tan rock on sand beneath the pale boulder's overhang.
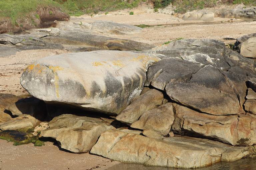
M 71 114 L 53 118 L 49 127 L 40 136 L 55 138 L 61 148 L 75 153 L 90 151 L 102 132 L 115 129 L 103 119 Z

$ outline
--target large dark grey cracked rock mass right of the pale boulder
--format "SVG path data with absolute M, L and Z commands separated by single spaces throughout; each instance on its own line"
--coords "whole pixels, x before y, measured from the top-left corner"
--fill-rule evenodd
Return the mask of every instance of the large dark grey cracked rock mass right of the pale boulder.
M 253 60 L 215 40 L 183 39 L 152 50 L 166 58 L 149 67 L 145 86 L 200 112 L 245 113 L 247 80 L 256 77 Z

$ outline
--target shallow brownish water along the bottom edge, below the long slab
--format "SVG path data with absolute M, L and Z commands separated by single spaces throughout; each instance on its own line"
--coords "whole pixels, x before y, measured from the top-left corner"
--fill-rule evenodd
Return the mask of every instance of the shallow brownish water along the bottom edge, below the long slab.
M 144 166 L 140 164 L 121 163 L 114 165 L 107 170 L 186 170 L 180 168 L 166 168 Z M 235 162 L 219 162 L 206 168 L 196 168 L 195 170 L 256 170 L 256 158 L 241 159 Z

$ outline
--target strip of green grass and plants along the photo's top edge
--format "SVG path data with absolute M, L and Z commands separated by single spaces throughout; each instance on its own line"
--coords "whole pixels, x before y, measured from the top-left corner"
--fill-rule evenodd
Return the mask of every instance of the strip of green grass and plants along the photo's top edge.
M 141 2 L 153 2 L 155 8 L 164 8 L 170 3 L 177 7 L 176 12 L 213 7 L 219 0 L 0 0 L 0 18 L 10 18 L 12 25 L 17 25 L 17 19 L 25 18 L 35 12 L 38 7 L 58 7 L 71 16 L 93 14 L 100 11 L 134 8 Z M 222 0 L 221 3 L 255 5 L 256 0 Z M 156 10 L 157 11 L 157 10 Z M 33 14 L 34 15 L 34 14 Z M 35 14 L 36 15 L 36 14 Z M 38 18 L 38 16 L 35 16 Z

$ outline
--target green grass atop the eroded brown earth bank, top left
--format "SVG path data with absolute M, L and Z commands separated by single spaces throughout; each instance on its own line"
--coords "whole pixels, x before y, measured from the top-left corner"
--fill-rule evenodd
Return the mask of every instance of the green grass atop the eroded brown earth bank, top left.
M 0 18 L 10 18 L 11 23 L 17 25 L 18 18 L 35 12 L 39 6 L 49 5 L 60 7 L 60 4 L 53 0 L 0 0 Z

